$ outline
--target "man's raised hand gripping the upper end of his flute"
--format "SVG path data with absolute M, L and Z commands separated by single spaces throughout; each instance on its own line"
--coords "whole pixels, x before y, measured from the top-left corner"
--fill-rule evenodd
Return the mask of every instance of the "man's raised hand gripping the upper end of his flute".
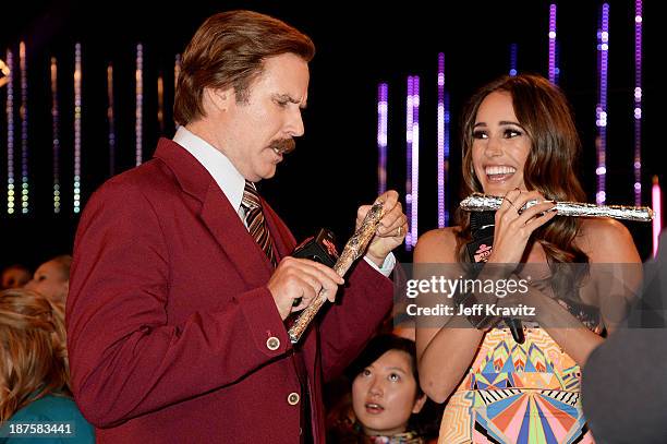
M 383 205 L 385 215 L 380 219 L 375 236 L 368 244 L 366 257 L 379 267 L 385 263 L 387 254 L 403 243 L 403 239 L 405 239 L 408 232 L 408 217 L 403 214 L 403 207 L 398 197 L 398 193 L 393 190 L 389 190 L 378 197 L 385 201 Z M 368 209 L 371 209 L 371 205 L 362 205 L 359 207 L 356 212 L 357 229 L 364 220 L 364 217 L 366 217 Z

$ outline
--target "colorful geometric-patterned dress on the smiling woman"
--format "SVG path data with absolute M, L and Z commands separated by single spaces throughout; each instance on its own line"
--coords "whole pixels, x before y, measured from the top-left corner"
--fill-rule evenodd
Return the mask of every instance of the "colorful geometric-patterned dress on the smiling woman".
M 602 331 L 587 307 L 567 308 Z M 580 383 L 579 365 L 544 329 L 525 328 L 525 343 L 517 344 L 509 328 L 493 328 L 447 403 L 438 443 L 594 443 Z

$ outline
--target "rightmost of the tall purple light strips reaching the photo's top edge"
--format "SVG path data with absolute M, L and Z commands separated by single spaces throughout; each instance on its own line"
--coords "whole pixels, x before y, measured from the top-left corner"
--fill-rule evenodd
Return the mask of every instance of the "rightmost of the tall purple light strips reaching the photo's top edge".
M 642 204 L 642 0 L 634 0 L 634 204 Z

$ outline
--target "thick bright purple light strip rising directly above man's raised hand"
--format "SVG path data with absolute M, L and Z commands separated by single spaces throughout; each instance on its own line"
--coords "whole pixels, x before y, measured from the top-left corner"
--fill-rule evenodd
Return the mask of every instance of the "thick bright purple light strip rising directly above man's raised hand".
M 408 204 L 408 218 L 410 230 L 405 236 L 408 251 L 416 244 L 417 215 L 419 215 L 419 183 L 420 183 L 420 76 L 408 77 L 408 184 L 405 202 Z

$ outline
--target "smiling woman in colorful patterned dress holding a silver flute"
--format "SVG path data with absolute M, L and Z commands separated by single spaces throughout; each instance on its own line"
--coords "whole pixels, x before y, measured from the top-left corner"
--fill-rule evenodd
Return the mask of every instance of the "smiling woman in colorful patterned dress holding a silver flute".
M 495 214 L 493 250 L 477 279 L 530 283 L 525 295 L 473 293 L 469 299 L 484 308 L 521 302 L 535 312 L 516 316 L 530 327 L 524 344 L 517 344 L 498 317 L 451 315 L 437 325 L 417 321 L 422 387 L 434 400 L 448 400 L 439 440 L 590 443 L 579 399 L 580 365 L 604 340 L 603 331 L 615 328 L 619 308 L 627 307 L 639 284 L 630 273 L 613 275 L 617 285 L 611 285 L 593 267 L 640 264 L 639 254 L 618 221 L 555 212 L 551 200 L 585 199 L 573 164 L 579 136 L 557 86 L 536 75 L 504 76 L 472 97 L 462 123 L 463 195 L 504 196 Z M 524 209 L 529 201 L 537 204 Z M 452 279 L 462 263 L 471 262 L 470 213 L 457 216 L 458 226 L 425 233 L 414 252 L 415 263 L 440 264 Z M 439 302 L 459 313 L 466 297 Z

